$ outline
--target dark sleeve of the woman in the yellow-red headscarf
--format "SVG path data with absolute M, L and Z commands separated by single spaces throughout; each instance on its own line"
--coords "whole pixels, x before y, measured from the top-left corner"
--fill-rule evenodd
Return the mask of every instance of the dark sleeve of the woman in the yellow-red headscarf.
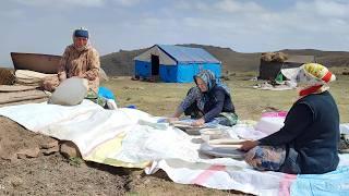
M 305 103 L 294 105 L 286 117 L 285 125 L 280 131 L 261 138 L 260 145 L 286 145 L 302 134 L 313 122 L 313 111 Z

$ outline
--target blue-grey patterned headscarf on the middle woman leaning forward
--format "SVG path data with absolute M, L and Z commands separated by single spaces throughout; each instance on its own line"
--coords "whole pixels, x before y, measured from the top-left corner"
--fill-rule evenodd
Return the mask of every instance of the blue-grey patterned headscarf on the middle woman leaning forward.
M 212 71 L 209 71 L 209 70 L 203 70 L 203 71 L 201 71 L 198 74 L 196 74 L 196 75 L 194 76 L 195 83 L 196 83 L 196 78 L 197 78 L 197 77 L 200 77 L 201 79 L 203 79 L 203 82 L 204 82 L 205 85 L 207 86 L 207 91 L 206 91 L 206 93 L 202 93 L 201 99 L 200 99 L 200 101 L 197 102 L 197 107 L 198 107 L 201 110 L 203 110 L 206 101 L 208 100 L 208 97 L 207 97 L 208 95 L 207 95 L 207 94 L 209 94 L 209 91 L 210 91 L 215 86 L 221 87 L 221 88 L 225 90 L 226 95 L 230 96 L 230 90 L 229 90 L 228 86 L 225 85 L 225 84 L 222 84 L 219 78 L 216 78 L 215 74 L 214 74 Z M 196 83 L 196 84 L 197 84 L 197 83 Z

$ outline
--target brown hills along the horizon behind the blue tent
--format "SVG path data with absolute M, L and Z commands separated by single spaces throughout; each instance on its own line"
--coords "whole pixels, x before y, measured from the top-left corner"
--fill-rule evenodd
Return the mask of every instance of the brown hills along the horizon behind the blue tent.
M 181 45 L 194 48 L 203 48 L 209 53 L 215 56 L 222 62 L 224 73 L 233 72 L 250 72 L 258 71 L 261 53 L 242 53 L 233 51 L 230 48 L 221 48 L 205 45 Z M 134 62 L 133 58 L 144 52 L 148 48 L 139 50 L 120 50 L 112 52 L 100 58 L 101 68 L 108 75 L 133 75 Z M 349 66 L 349 52 L 346 51 L 322 51 L 313 49 L 299 49 L 299 50 L 280 50 L 287 54 L 304 54 L 315 56 L 316 62 L 327 66 Z

